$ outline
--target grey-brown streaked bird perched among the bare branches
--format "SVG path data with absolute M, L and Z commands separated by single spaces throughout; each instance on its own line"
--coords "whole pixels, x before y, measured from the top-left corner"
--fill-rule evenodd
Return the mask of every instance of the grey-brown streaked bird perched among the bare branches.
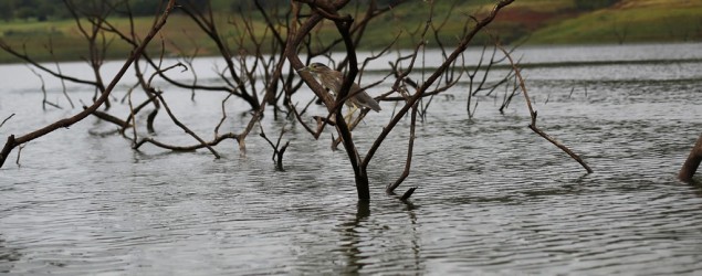
M 342 89 L 342 85 L 344 83 L 344 74 L 336 70 L 329 68 L 328 66 L 315 62 L 310 64 L 308 66 L 302 67 L 297 72 L 312 72 L 317 75 L 317 79 L 319 83 L 332 91 L 332 94 L 336 97 L 338 92 Z M 371 110 L 379 113 L 381 110 L 380 105 L 376 102 L 368 93 L 363 91 L 357 83 L 353 83 L 349 89 L 349 95 L 353 95 L 348 100 L 346 100 L 346 105 L 352 107 L 352 110 L 347 116 L 353 115 L 358 107 L 370 108 Z M 346 116 L 345 116 L 346 117 Z

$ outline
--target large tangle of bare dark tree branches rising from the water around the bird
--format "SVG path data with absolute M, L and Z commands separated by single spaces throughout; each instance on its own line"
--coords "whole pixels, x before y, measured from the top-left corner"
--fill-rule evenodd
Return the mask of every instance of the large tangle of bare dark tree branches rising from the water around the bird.
M 134 149 L 147 144 L 169 150 L 206 148 L 216 158 L 219 158 L 220 155 L 214 147 L 224 139 L 234 139 L 239 145 L 240 151 L 245 153 L 247 138 L 259 125 L 261 129 L 260 136 L 271 145 L 274 151 L 273 159 L 276 161 L 279 169 L 282 169 L 283 153 L 289 145 L 285 144 L 281 147 L 281 139 L 285 135 L 285 128 L 281 131 L 277 142 L 273 144 L 263 134 L 263 128 L 260 125 L 261 118 L 266 115 L 273 116 L 275 119 L 300 124 L 314 139 L 318 139 L 325 129 L 328 130 L 328 126 L 331 128 L 329 131 L 337 137 L 333 146 L 336 147 L 336 145 L 340 144 L 347 153 L 354 171 L 359 200 L 369 200 L 370 191 L 367 172 L 370 161 L 378 152 L 378 149 L 383 147 L 388 135 L 396 129 L 398 123 L 409 119 L 405 169 L 398 179 L 392 183 L 387 183 L 386 188 L 388 193 L 392 193 L 410 173 L 417 118 L 426 116 L 429 104 L 436 95 L 446 93 L 451 87 L 454 87 L 459 81 L 465 78 L 470 83 L 469 95 L 475 95 L 480 92 L 491 94 L 501 85 L 517 83 L 518 70 L 516 65 L 514 65 L 515 70 L 513 71 L 516 74 L 509 73 L 507 75 L 499 76 L 500 81 L 492 84 L 486 84 L 485 76 L 483 76 L 482 81 L 475 77 L 479 67 L 486 75 L 492 65 L 505 61 L 504 57 L 495 59 L 495 53 L 497 53 L 496 45 L 490 62 L 483 64 L 483 59 L 481 57 L 478 65 L 472 64 L 474 70 L 470 68 L 471 64 L 467 64 L 464 59 L 464 52 L 475 36 L 495 19 L 503 8 L 513 1 L 500 0 L 488 12 L 476 13 L 475 15 L 462 14 L 460 18 L 463 20 L 463 28 L 459 33 L 453 31 L 452 34 L 455 38 L 452 41 L 444 39 L 444 33 L 449 32 L 444 31 L 444 26 L 451 13 L 439 14 L 434 12 L 436 4 L 433 1 L 415 3 L 421 4 L 420 8 L 427 10 L 426 23 L 411 30 L 405 30 L 407 35 L 402 36 L 401 33 L 398 33 L 394 42 L 385 45 L 381 51 L 363 62 L 358 61 L 356 49 L 364 41 L 369 40 L 366 34 L 371 23 L 379 20 L 394 20 L 396 15 L 394 14 L 394 9 L 400 4 L 409 4 L 410 1 L 355 1 L 354 6 L 349 4 L 350 0 L 294 0 L 290 4 L 281 6 L 264 4 L 264 1 L 253 0 L 247 2 L 247 4 L 238 6 L 237 9 L 240 9 L 240 11 L 231 15 L 226 22 L 221 19 L 222 14 L 214 12 L 212 7 L 207 4 L 209 2 L 203 4 L 202 1 L 195 0 L 178 1 L 178 9 L 187 14 L 201 32 L 207 34 L 209 38 L 207 43 L 217 49 L 217 55 L 224 62 L 224 67 L 218 71 L 219 82 L 201 83 L 198 81 L 198 72 L 192 66 L 193 60 L 200 55 L 198 43 L 201 42 L 176 42 L 166 36 L 161 40 L 160 47 L 156 47 L 156 51 L 145 51 L 146 45 L 166 23 L 166 18 L 176 6 L 175 0 L 161 7 L 163 15 L 154 24 L 148 35 L 144 38 L 135 31 L 135 21 L 132 18 L 133 7 L 129 6 L 129 1 L 93 7 L 92 9 L 77 9 L 73 1 L 65 0 L 65 6 L 72 11 L 78 30 L 88 42 L 87 56 L 90 59 L 87 59 L 87 62 L 94 68 L 94 78 L 83 79 L 77 76 L 64 75 L 60 70 L 52 70 L 36 63 L 29 54 L 17 51 L 2 41 L 0 41 L 0 47 L 32 64 L 35 68 L 62 81 L 94 86 L 97 92 L 96 97 L 92 105 L 85 106 L 84 110 L 74 117 L 56 121 L 23 136 L 10 136 L 0 152 L 0 167 L 15 147 L 57 128 L 75 124 L 88 115 L 94 115 L 117 125 L 119 134 L 132 140 Z M 457 3 L 458 1 L 453 3 L 453 7 Z M 112 13 L 128 14 L 130 25 L 126 29 L 116 26 L 111 22 Z M 333 24 L 334 31 L 329 30 L 328 22 Z M 413 46 L 410 50 L 400 51 L 400 46 L 397 45 L 400 36 L 404 40 L 411 40 L 411 45 Z M 104 61 L 104 53 L 108 51 L 112 43 L 106 38 L 118 38 L 122 43 L 129 45 L 133 51 L 121 73 L 107 85 L 104 85 L 105 82 L 102 81 L 104 77 L 99 73 L 99 66 Z M 164 57 L 167 43 L 177 50 L 179 56 L 177 61 Z M 190 47 L 191 50 L 186 50 L 185 43 L 196 45 Z M 417 65 L 417 61 L 423 59 L 422 55 L 428 43 L 437 45 L 441 51 L 442 59 L 434 68 Z M 343 51 L 345 53 L 344 59 L 332 60 L 332 53 L 335 51 Z M 389 117 L 383 131 L 375 137 L 370 148 L 362 151 L 356 146 L 352 131 L 359 127 L 359 123 L 369 109 L 362 108 L 355 118 L 352 117 L 353 119 L 348 121 L 345 120 L 342 109 L 344 103 L 355 96 L 354 93 L 363 92 L 350 88 L 354 82 L 358 82 L 357 78 L 363 75 L 366 65 L 378 57 L 391 56 L 390 54 L 395 54 L 396 59 L 388 64 L 388 74 L 379 82 L 362 87 L 368 89 L 383 83 L 388 84 L 390 89 L 375 99 L 381 104 L 384 102 L 396 103 L 397 108 Z M 484 54 L 485 51 L 483 51 Z M 504 51 L 504 54 L 505 57 L 509 56 L 509 51 Z M 328 64 L 332 64 L 335 70 L 345 72 L 343 84 L 336 95 L 329 94 L 311 74 L 298 72 L 306 64 L 310 64 L 313 59 L 326 59 Z M 143 62 L 139 63 L 138 61 Z M 512 60 L 510 59 L 510 61 Z M 126 95 L 129 113 L 121 118 L 107 112 L 98 110 L 99 106 L 107 104 L 107 96 L 129 66 L 134 68 L 137 79 Z M 171 70 L 175 68 L 189 70 L 192 78 L 184 82 L 172 77 Z M 153 73 L 147 74 L 146 72 Z M 417 74 L 418 72 L 421 74 Z M 196 134 L 177 118 L 176 114 L 169 108 L 168 102 L 163 97 L 164 92 L 153 85 L 155 78 L 160 78 L 179 88 L 190 89 L 193 93 L 193 97 L 200 91 L 219 92 L 227 95 L 221 103 L 222 117 L 213 129 L 214 136 L 210 140 L 201 138 L 201 134 Z M 523 79 L 520 78 L 518 82 L 524 87 Z M 295 99 L 298 98 L 298 92 L 304 86 L 308 86 L 314 92 L 315 97 L 324 104 L 327 112 L 325 117 L 315 117 L 307 114 L 307 107 L 315 99 L 308 102 L 304 107 L 294 104 Z M 516 88 L 515 84 L 509 97 L 505 92 L 505 103 L 501 108 L 509 104 L 509 99 L 514 96 Z M 136 92 L 144 93 L 146 99 L 142 103 L 133 103 L 132 95 Z M 525 89 L 524 95 L 526 96 Z M 250 108 L 250 117 L 248 123 L 242 126 L 241 131 L 220 134 L 220 128 L 227 119 L 224 107 L 228 100 L 241 100 L 244 103 Z M 469 96 L 469 116 L 472 116 L 470 100 L 471 97 Z M 169 145 L 157 140 L 154 136 L 137 131 L 138 126 L 135 118 L 137 115 L 146 113 L 148 113 L 146 126 L 148 131 L 157 131 L 153 123 L 156 116 L 163 114 L 160 110 L 165 110 L 172 124 L 192 137 L 196 142 L 192 145 Z M 535 115 L 535 112 L 532 110 L 532 126 L 534 126 L 534 131 L 537 131 Z M 311 125 L 308 124 L 310 121 L 315 121 L 316 125 Z M 584 162 L 581 163 L 590 171 Z M 407 199 L 412 191 L 413 189 L 408 190 L 402 195 L 402 199 Z

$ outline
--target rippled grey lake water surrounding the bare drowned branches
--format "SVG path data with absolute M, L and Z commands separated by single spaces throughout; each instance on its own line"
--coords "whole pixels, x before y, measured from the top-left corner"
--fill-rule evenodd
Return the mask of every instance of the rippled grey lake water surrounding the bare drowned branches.
M 523 74 L 538 125 L 594 173 L 526 127 L 521 96 L 504 115 L 504 89 L 497 99 L 478 97 L 470 120 L 465 84 L 451 91 L 455 98 L 434 98 L 418 125 L 411 174 L 399 190 L 419 189 L 407 203 L 384 193 L 404 167 L 407 120 L 371 161 L 365 204 L 328 132 L 314 140 L 268 116 L 270 137 L 290 129 L 285 171 L 277 171 L 256 134 L 245 156 L 228 141 L 216 160 L 206 150 L 132 150 L 113 125 L 90 117 L 27 145 L 20 166 L 15 149 L 0 169 L 0 273 L 701 274 L 702 185 L 679 182 L 677 172 L 702 132 L 702 44 L 525 47 L 515 55 L 528 64 Z M 202 72 L 212 62 L 203 59 Z M 41 84 L 27 66 L 0 66 L 0 119 L 15 114 L 0 128 L 3 141 L 78 112 L 60 83 L 45 81 L 48 99 L 63 109 L 42 110 Z M 122 118 L 127 83 L 109 110 Z M 191 102 L 190 92 L 164 89 L 176 116 L 210 140 L 226 95 L 197 93 Z M 69 91 L 75 103 L 91 102 L 92 91 Z M 229 103 L 220 132 L 249 120 Z M 381 105 L 354 131 L 362 152 L 391 116 L 392 104 Z M 156 139 L 195 144 L 164 115 Z

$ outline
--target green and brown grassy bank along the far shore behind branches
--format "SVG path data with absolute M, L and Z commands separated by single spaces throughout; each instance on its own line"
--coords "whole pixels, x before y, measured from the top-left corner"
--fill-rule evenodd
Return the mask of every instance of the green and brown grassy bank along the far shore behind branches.
M 457 35 L 463 32 L 469 15 L 485 14 L 492 0 L 479 1 L 438 1 L 434 7 L 434 25 L 443 24 L 439 39 L 447 46 L 453 45 Z M 503 41 L 526 41 L 528 44 L 568 44 L 568 43 L 638 43 L 638 42 L 679 42 L 702 41 L 702 0 L 622 0 L 617 4 L 597 10 L 578 10 L 575 0 L 517 0 L 504 9 L 494 24 L 493 33 Z M 345 12 L 356 13 L 355 7 Z M 263 30 L 263 21 L 252 15 L 254 30 Z M 360 18 L 362 13 L 356 13 Z M 244 14 L 247 17 L 247 14 Z M 394 9 L 377 19 L 366 31 L 360 50 L 380 49 L 399 34 L 398 47 L 411 47 L 418 41 L 418 30 L 429 18 L 425 1 L 411 1 Z M 237 44 L 241 30 L 229 23 L 231 19 L 242 20 L 242 14 L 222 14 L 219 28 L 228 36 L 235 52 L 251 51 L 252 44 L 244 41 Z M 127 30 L 124 18 L 111 19 L 116 26 Z M 137 32 L 146 32 L 151 18 L 136 20 Z M 241 25 L 239 25 L 241 26 Z M 164 47 L 169 55 L 201 55 L 217 53 L 217 49 L 205 33 L 187 17 L 175 14 L 163 30 Z M 258 33 L 263 36 L 263 32 Z M 268 34 L 270 38 L 270 33 Z M 433 35 L 433 34 L 432 34 Z M 0 24 L 0 38 L 14 49 L 24 49 L 27 53 L 41 61 L 66 61 L 86 59 L 87 43 L 82 39 L 73 20 L 31 22 L 12 21 Z M 335 26 L 325 22 L 315 30 L 314 38 L 326 42 L 338 38 Z M 476 39 L 482 43 L 484 36 Z M 123 59 L 130 47 L 118 38 L 106 36 L 111 43 L 106 53 L 108 59 Z M 102 43 L 102 42 L 101 42 Z M 52 45 L 53 54 L 49 51 Z M 153 43 L 151 52 L 159 52 L 161 43 Z M 429 46 L 436 46 L 429 44 Z M 19 62 L 17 57 L 0 51 L 0 63 Z

